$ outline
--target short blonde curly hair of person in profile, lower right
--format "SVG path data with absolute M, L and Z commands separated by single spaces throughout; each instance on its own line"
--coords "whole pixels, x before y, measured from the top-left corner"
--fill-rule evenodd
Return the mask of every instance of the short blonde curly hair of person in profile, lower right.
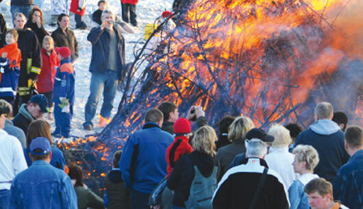
M 305 169 L 314 171 L 319 163 L 318 151 L 310 145 L 297 145 L 292 153 L 295 154 L 299 162 L 306 162 Z

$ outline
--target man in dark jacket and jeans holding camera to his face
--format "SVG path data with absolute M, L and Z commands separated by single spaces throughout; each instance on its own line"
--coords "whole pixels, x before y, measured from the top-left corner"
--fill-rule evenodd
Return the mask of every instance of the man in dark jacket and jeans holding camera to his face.
M 90 95 L 86 103 L 83 123 L 85 130 L 92 130 L 99 96 L 103 89 L 103 104 L 100 112 L 99 126 L 110 123 L 114 97 L 118 81 L 123 80 L 125 65 L 125 42 L 123 36 L 114 27 L 114 14 L 110 10 L 102 12 L 102 24 L 91 29 L 87 40 L 92 43 L 90 72 Z

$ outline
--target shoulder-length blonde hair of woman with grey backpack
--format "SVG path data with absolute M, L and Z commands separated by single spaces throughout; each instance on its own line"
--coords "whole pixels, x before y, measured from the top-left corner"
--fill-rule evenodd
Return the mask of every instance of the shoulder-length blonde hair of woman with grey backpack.
M 194 150 L 201 151 L 214 157 L 216 155 L 216 141 L 217 135 L 214 129 L 209 125 L 199 127 L 195 132 L 192 140 L 192 147 Z

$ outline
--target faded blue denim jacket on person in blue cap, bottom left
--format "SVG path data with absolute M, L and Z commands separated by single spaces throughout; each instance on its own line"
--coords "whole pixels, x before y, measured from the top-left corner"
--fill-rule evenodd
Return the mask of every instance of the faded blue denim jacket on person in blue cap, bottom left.
M 77 195 L 64 171 L 45 160 L 36 160 L 14 178 L 9 208 L 77 209 Z

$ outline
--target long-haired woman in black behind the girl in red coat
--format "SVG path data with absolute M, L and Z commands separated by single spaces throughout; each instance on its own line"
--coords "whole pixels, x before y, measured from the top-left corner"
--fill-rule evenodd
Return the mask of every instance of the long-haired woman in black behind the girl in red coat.
M 44 28 L 43 13 L 38 7 L 32 8 L 29 12 L 28 21 L 25 24 L 26 28 L 32 29 L 36 38 L 38 38 L 40 47 L 42 47 L 42 42 L 45 36 L 49 36 L 49 33 Z

